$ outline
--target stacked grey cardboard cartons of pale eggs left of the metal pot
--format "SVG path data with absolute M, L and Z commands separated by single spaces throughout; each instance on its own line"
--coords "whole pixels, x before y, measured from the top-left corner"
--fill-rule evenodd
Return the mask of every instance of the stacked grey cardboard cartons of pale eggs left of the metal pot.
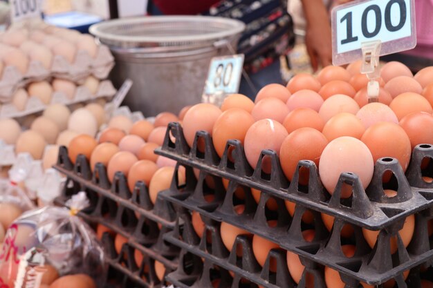
M 111 81 L 104 80 L 114 58 L 91 35 L 40 24 L 4 32 L 0 48 L 0 118 L 116 93 Z

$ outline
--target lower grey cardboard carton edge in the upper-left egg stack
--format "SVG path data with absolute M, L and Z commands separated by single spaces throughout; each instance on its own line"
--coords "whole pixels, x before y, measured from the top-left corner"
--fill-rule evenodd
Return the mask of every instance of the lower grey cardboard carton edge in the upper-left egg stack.
M 109 80 L 104 80 L 100 82 L 100 86 L 98 87 L 98 91 L 95 95 L 92 95 L 89 91 L 89 88 L 86 86 L 78 86 L 75 92 L 75 96 L 73 99 L 69 99 L 62 92 L 55 92 L 51 98 L 50 104 L 64 104 L 71 105 L 81 102 L 86 102 L 93 99 L 98 99 L 101 97 L 112 97 L 116 94 L 116 88 L 114 88 L 113 84 Z M 46 104 L 43 104 L 39 98 L 32 96 L 29 97 L 28 102 L 26 104 L 26 108 L 24 111 L 18 111 L 14 104 L 8 103 L 3 104 L 0 108 L 0 119 L 1 118 L 18 118 L 24 117 L 27 115 L 35 114 L 42 112 L 46 109 Z

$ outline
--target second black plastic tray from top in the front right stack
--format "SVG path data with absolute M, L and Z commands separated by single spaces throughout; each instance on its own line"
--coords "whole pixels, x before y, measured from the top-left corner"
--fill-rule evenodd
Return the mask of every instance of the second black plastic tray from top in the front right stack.
M 221 242 L 221 233 L 219 231 L 221 222 L 228 222 L 275 242 L 282 249 L 293 251 L 300 256 L 304 266 L 311 269 L 308 272 L 317 276 L 317 282 L 320 282 L 320 275 L 317 271 L 314 271 L 317 266 L 327 266 L 340 271 L 340 276 L 347 283 L 347 287 L 352 288 L 358 287 L 359 281 L 379 285 L 391 278 L 399 279 L 403 271 L 424 262 L 427 262 L 428 265 L 432 263 L 433 236 L 429 238 L 427 224 L 433 218 L 433 209 L 426 209 L 416 213 L 414 236 L 407 248 L 403 245 L 400 235 L 397 233 L 402 228 L 403 222 L 396 222 L 391 227 L 380 231 L 376 246 L 371 249 L 365 242 L 360 227 L 349 224 L 354 233 L 351 238 L 344 239 L 341 237 L 340 231 L 347 222 L 343 220 L 335 220 L 333 229 L 329 232 L 322 222 L 320 213 L 317 211 L 310 211 L 314 216 L 313 223 L 305 224 L 302 222 L 302 216 L 306 211 L 304 207 L 296 207 L 292 218 L 288 214 L 284 202 L 275 198 L 278 209 L 270 211 L 266 207 L 269 195 L 262 193 L 257 204 L 252 198 L 248 187 L 241 186 L 245 199 L 239 200 L 235 195 L 238 186 L 234 182 L 230 182 L 228 190 L 223 191 L 221 189 L 221 178 L 214 177 L 215 187 L 220 188 L 210 189 L 206 184 L 207 173 L 201 171 L 199 180 L 196 181 L 192 168 L 187 166 L 185 168 L 187 171 L 185 187 L 176 190 L 174 189 L 175 184 L 173 184 L 171 189 L 161 193 L 163 198 L 174 204 L 178 212 L 178 221 L 181 221 L 181 226 L 176 227 L 173 232 L 167 233 L 165 240 L 182 249 L 196 253 L 198 256 L 217 262 L 225 269 L 232 271 L 241 269 L 248 271 L 248 273 L 255 272 L 256 275 L 250 275 L 248 279 L 256 279 L 255 282 L 263 287 L 293 287 L 293 285 L 290 285 L 291 281 L 286 281 L 289 276 L 285 273 L 286 269 L 284 268 L 280 269 L 280 271 L 283 271 L 282 274 L 286 276 L 281 276 L 282 279 L 276 276 L 279 282 L 275 282 L 274 286 L 264 285 L 263 280 L 259 281 L 260 277 L 266 276 L 265 279 L 269 278 L 269 272 L 266 271 L 266 267 L 263 270 L 257 267 L 255 258 L 251 254 L 250 241 L 245 236 L 238 236 L 237 244 L 234 244 L 234 247 L 238 247 L 238 245 L 243 247 L 242 262 L 237 262 L 236 248 L 234 248 L 234 251 L 228 251 Z M 209 199 L 205 197 L 208 195 L 213 195 L 214 200 L 212 202 L 206 200 Z M 243 204 L 245 207 L 241 214 L 238 214 L 234 209 L 239 204 Z M 200 213 L 206 227 L 203 236 L 197 236 L 192 229 L 190 211 Z M 270 220 L 276 220 L 275 227 L 268 226 Z M 302 231 L 306 229 L 315 230 L 315 237 L 311 242 L 307 242 L 302 236 Z M 212 239 L 210 243 L 203 240 L 209 237 L 207 235 L 210 235 Z M 397 238 L 398 247 L 396 253 L 391 254 L 390 238 L 393 236 Z M 353 257 L 347 258 L 344 256 L 341 248 L 344 244 L 356 244 L 356 252 Z M 246 257 L 246 255 L 249 256 Z M 275 254 L 272 257 L 277 259 L 282 256 Z M 285 258 L 283 260 L 286 261 Z M 225 265 L 221 263 L 225 263 Z M 237 265 L 239 267 L 236 267 Z M 400 281 L 398 287 L 406 287 L 403 284 L 403 278 Z M 282 285 L 283 282 L 287 282 L 287 284 Z

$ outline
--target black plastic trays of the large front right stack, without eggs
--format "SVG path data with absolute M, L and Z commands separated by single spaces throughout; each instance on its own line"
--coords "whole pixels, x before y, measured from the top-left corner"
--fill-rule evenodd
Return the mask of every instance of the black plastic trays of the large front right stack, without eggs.
M 204 143 L 204 152 L 197 148 L 197 143 Z M 169 124 L 165 142 L 156 153 L 176 160 L 176 169 L 182 166 L 186 169 L 186 182 L 180 189 L 178 180 L 174 179 L 171 188 L 161 193 L 163 198 L 172 202 L 178 213 L 176 229 L 165 236 L 167 242 L 182 248 L 178 270 L 167 276 L 167 281 L 178 287 L 211 287 L 203 286 L 200 281 L 209 281 L 211 271 L 216 270 L 219 274 L 225 270 L 234 272 L 233 282 L 227 282 L 227 279 L 232 278 L 224 273 L 228 278 L 221 278 L 225 285 L 220 287 L 243 287 L 245 280 L 254 283 L 252 287 L 306 287 L 307 274 L 313 276 L 314 287 L 326 287 L 324 266 L 339 271 L 347 288 L 361 287 L 360 282 L 382 287 L 381 284 L 389 279 L 395 279 L 398 288 L 420 287 L 408 286 L 403 271 L 414 267 L 429 267 L 432 264 L 433 238 L 429 238 L 427 224 L 433 218 L 433 184 L 425 182 L 422 177 L 431 177 L 433 167 L 429 165 L 421 170 L 421 162 L 425 157 L 433 159 L 431 145 L 422 144 L 414 148 L 406 175 L 397 160 L 378 160 L 373 180 L 365 190 L 357 175 L 342 173 L 333 195 L 322 186 L 314 162 L 300 161 L 293 181 L 289 183 L 282 173 L 275 151 L 262 151 L 257 168 L 253 170 L 246 160 L 241 142 L 229 140 L 220 159 L 207 132 L 198 131 L 190 148 L 178 123 Z M 270 159 L 270 174 L 261 169 L 261 162 L 265 157 Z M 193 168 L 200 171 L 198 180 L 194 177 Z M 305 186 L 298 183 L 298 171 L 301 168 L 309 171 L 308 185 Z M 387 184 L 391 186 L 383 186 L 383 174 L 386 171 L 394 174 Z M 206 184 L 208 177 L 213 178 L 214 189 L 210 189 Z M 230 180 L 226 191 L 223 178 Z M 351 186 L 351 198 L 340 199 L 343 184 Z M 243 200 L 235 195 L 239 188 L 243 189 Z M 259 203 L 255 202 L 250 188 L 261 191 Z M 383 189 L 395 189 L 396 197 L 388 198 Z M 208 200 L 212 198 L 208 195 L 213 195 L 211 202 Z M 276 211 L 267 208 L 270 198 L 277 203 Z M 284 200 L 295 202 L 293 217 L 286 210 Z M 234 209 L 238 204 L 245 206 L 241 214 Z M 203 236 L 194 232 L 192 211 L 198 212 L 205 224 Z M 302 222 L 306 211 L 313 214 L 313 224 Z M 335 217 L 330 232 L 322 222 L 321 213 Z M 414 215 L 416 224 L 412 241 L 406 248 L 398 231 L 402 229 L 405 218 L 409 215 Z M 276 226 L 269 227 L 269 220 L 276 220 Z M 252 253 L 251 237 L 237 236 L 232 251 L 225 248 L 219 230 L 221 222 L 270 240 L 282 249 L 271 250 L 264 267 L 261 268 Z M 340 236 L 345 224 L 349 224 L 354 230 L 352 240 L 356 244 L 356 251 L 351 258 L 344 256 L 341 248 L 348 244 L 344 243 Z M 380 230 L 373 249 L 363 237 L 362 228 Z M 315 237 L 311 242 L 307 242 L 302 236 L 302 231 L 306 229 L 315 230 Z M 392 255 L 391 237 L 397 239 L 397 251 Z M 237 256 L 239 249 L 243 251 L 242 257 Z M 285 250 L 300 256 L 306 267 L 298 285 L 288 273 Z M 275 261 L 277 269 L 270 271 L 269 263 Z M 197 262 L 195 265 L 198 267 L 194 267 L 192 262 Z M 219 268 L 216 269 L 214 265 Z M 413 276 L 413 273 L 411 275 L 408 278 L 412 279 L 410 281 L 419 281 L 419 273 L 418 276 Z M 212 276 L 210 278 L 212 279 Z M 233 283 L 232 286 L 230 283 Z

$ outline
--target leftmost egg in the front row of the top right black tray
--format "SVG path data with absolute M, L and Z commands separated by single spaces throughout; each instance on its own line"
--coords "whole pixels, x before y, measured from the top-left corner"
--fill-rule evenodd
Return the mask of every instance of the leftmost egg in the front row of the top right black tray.
M 183 134 L 188 145 L 192 146 L 196 131 L 208 131 L 212 136 L 212 128 L 221 113 L 221 110 L 212 104 L 201 103 L 192 106 L 183 118 Z

